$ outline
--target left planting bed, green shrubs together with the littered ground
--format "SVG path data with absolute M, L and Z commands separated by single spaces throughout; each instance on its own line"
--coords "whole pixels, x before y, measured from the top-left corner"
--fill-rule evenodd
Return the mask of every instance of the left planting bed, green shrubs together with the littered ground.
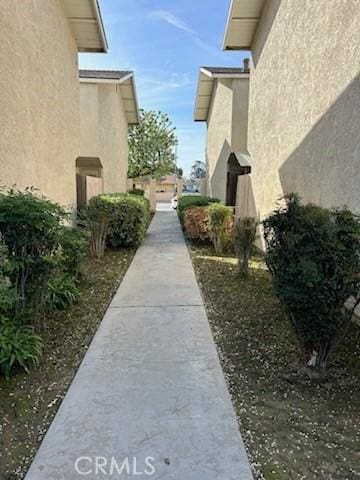
M 138 192 L 93 198 L 76 227 L 31 188 L 0 192 L 0 480 L 24 478 L 149 219 Z

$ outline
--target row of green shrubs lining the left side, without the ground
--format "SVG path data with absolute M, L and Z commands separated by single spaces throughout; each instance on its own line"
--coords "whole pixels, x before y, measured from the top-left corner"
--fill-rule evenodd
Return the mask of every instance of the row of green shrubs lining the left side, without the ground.
M 39 364 L 47 315 L 79 301 L 89 252 L 136 247 L 149 218 L 143 196 L 101 195 L 72 227 L 63 207 L 33 189 L 0 192 L 0 373 Z

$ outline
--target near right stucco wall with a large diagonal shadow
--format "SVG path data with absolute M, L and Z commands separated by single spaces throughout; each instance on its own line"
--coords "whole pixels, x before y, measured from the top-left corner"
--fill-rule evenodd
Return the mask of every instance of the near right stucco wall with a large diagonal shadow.
M 257 30 L 248 146 L 256 209 L 297 191 L 360 211 L 358 0 L 269 0 Z

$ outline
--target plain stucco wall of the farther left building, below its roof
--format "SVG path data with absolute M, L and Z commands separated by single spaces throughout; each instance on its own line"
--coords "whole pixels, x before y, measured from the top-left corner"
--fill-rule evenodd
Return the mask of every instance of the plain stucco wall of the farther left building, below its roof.
M 125 192 L 128 123 L 119 85 L 80 84 L 80 156 L 97 157 L 105 192 Z

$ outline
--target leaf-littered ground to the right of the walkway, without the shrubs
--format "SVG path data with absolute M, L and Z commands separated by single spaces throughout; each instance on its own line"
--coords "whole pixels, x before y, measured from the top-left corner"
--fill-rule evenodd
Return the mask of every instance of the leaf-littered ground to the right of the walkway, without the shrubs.
M 296 338 L 261 262 L 190 246 L 222 367 L 256 479 L 360 478 L 360 328 L 326 376 L 302 369 Z

